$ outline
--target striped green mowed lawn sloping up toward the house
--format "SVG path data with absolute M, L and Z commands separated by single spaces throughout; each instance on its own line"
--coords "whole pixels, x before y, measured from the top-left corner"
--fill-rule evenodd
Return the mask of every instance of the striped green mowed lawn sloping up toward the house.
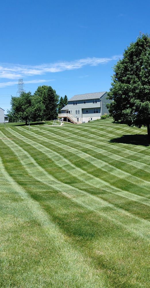
M 45 124 L 0 126 L 0 287 L 149 288 L 146 129 Z

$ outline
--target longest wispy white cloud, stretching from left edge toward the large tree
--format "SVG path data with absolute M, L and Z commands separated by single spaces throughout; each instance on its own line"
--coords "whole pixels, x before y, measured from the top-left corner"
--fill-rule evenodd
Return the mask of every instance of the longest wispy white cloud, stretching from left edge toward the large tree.
M 42 65 L 12 65 L 1 64 L 0 66 L 0 78 L 16 79 L 25 76 L 43 75 L 46 73 L 56 73 L 66 70 L 80 69 L 86 65 L 97 66 L 104 64 L 112 60 L 118 60 L 122 56 L 112 56 L 110 58 L 83 58 L 74 61 L 63 61 L 56 63 L 47 63 Z

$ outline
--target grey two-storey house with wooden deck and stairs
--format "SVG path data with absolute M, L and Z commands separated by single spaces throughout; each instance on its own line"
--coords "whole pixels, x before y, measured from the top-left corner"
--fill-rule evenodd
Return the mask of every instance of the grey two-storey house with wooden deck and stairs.
M 86 123 L 89 120 L 100 119 L 101 115 L 109 113 L 105 104 L 110 103 L 106 99 L 106 92 L 74 95 L 68 100 L 68 105 L 61 109 L 58 117 L 73 123 Z

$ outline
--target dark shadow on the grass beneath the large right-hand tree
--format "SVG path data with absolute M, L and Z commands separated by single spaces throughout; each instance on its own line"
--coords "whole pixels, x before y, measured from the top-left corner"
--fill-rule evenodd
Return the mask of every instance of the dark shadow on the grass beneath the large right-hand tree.
M 124 143 L 124 144 L 132 144 L 132 145 L 142 145 L 149 146 L 146 134 L 130 134 L 123 135 L 122 137 L 113 138 L 109 141 L 110 143 Z

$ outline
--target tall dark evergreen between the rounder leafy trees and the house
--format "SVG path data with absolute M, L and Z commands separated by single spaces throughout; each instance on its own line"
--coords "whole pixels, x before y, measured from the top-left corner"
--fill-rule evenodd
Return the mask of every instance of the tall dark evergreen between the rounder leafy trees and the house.
M 49 86 L 44 96 L 43 104 L 45 105 L 45 118 L 46 120 L 53 120 L 57 118 L 59 95 L 56 91 Z

